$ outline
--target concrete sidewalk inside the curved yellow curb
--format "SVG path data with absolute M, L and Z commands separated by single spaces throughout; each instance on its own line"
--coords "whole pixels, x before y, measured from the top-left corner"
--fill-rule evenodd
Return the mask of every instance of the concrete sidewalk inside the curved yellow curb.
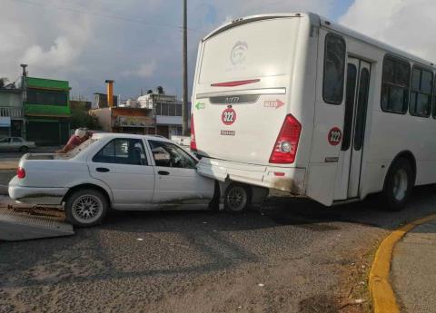
M 436 220 L 417 226 L 397 243 L 391 284 L 401 312 L 436 313 Z

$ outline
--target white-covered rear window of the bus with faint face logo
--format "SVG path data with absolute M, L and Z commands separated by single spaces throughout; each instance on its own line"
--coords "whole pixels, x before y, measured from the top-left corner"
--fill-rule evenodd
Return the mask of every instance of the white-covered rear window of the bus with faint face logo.
M 198 83 L 223 83 L 289 74 L 299 18 L 233 27 L 208 39 Z

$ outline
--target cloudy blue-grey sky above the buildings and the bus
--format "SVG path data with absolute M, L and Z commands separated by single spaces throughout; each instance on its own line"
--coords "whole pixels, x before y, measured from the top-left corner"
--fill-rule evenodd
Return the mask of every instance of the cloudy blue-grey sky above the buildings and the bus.
M 182 96 L 182 0 L 0 0 L 0 77 L 68 80 L 92 100 L 114 79 L 135 98 L 162 85 Z M 189 88 L 198 43 L 245 15 L 311 11 L 433 61 L 434 0 L 188 0 Z

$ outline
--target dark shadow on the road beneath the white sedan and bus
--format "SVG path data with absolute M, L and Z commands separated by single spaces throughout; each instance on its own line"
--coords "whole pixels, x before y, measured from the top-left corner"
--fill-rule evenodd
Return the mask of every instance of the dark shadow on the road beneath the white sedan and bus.
M 334 222 L 347 222 L 394 230 L 401 224 L 436 213 L 436 185 L 417 187 L 404 210 L 390 211 L 383 208 L 379 195 L 371 195 L 365 201 L 332 207 L 308 199 L 270 197 L 262 206 L 242 214 L 194 211 L 113 211 L 106 218 L 107 230 L 165 232 L 185 231 L 186 223 L 211 224 L 217 231 L 259 230 L 293 225 L 315 231 L 337 230 Z M 161 221 L 156 223 L 155 221 Z M 191 229 L 192 230 L 192 229 Z M 191 231 L 188 230 L 188 231 Z

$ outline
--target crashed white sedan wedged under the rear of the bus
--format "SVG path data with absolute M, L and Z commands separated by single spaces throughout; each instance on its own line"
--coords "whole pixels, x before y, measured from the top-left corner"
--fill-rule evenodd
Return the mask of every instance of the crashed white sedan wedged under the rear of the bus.
M 67 154 L 25 154 L 9 182 L 9 196 L 35 205 L 64 205 L 66 219 L 80 227 L 100 223 L 109 208 L 211 206 L 218 189 L 197 173 L 197 162 L 164 138 L 96 133 Z

